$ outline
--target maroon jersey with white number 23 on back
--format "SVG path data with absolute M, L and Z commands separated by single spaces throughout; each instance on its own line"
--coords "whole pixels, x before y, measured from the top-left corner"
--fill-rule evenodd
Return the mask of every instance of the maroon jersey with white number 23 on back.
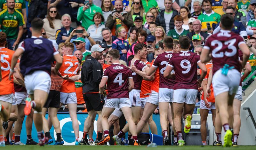
M 204 45 L 204 49 L 212 53 L 213 75 L 225 64 L 230 67 L 234 66 L 236 70 L 241 70 L 238 58 L 238 46 L 245 43 L 243 38 L 238 34 L 220 30 L 220 32 L 210 36 Z

